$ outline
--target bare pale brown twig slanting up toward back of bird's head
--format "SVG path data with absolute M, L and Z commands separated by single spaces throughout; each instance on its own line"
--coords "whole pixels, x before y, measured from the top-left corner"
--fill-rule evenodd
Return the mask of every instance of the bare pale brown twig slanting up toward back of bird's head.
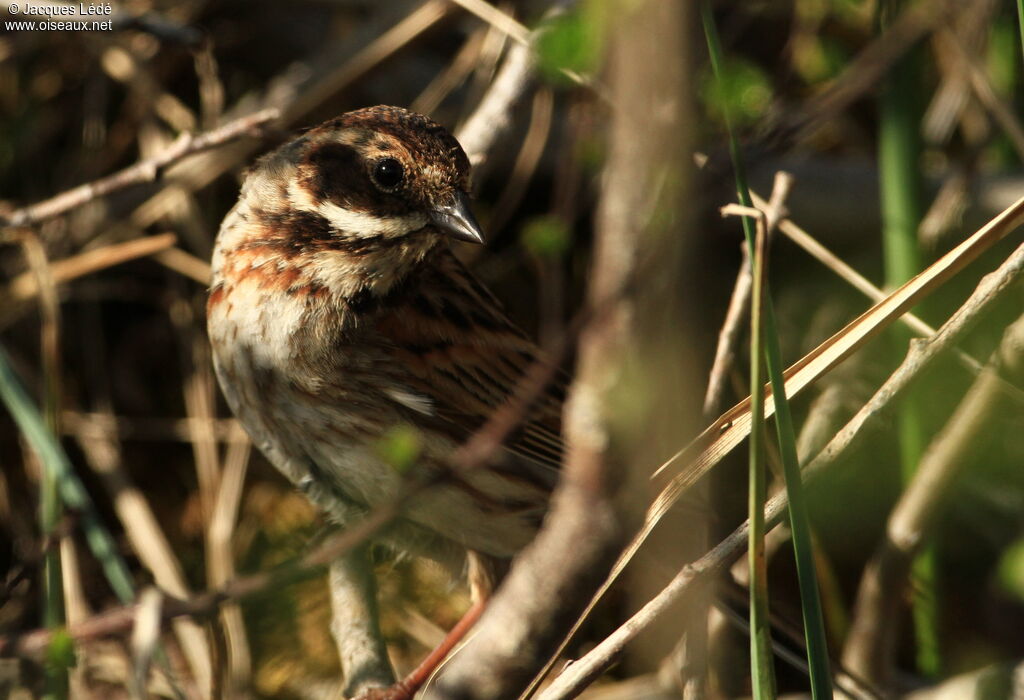
M 202 134 L 184 133 L 181 134 L 166 150 L 139 161 L 135 165 L 125 168 L 113 175 L 79 185 L 74 189 L 69 189 L 56 196 L 44 202 L 34 204 L 31 207 L 19 209 L 10 216 L 0 221 L 3 226 L 27 226 L 38 223 L 44 219 L 50 219 L 65 212 L 81 207 L 98 196 L 110 194 L 118 189 L 142 182 L 151 182 L 157 179 L 161 170 L 173 163 L 177 163 L 186 156 L 209 150 L 222 143 L 227 143 L 234 139 L 251 134 L 255 130 L 267 123 L 278 119 L 278 110 L 262 110 L 254 115 L 249 115 L 232 122 L 228 122 L 222 127 L 207 131 Z

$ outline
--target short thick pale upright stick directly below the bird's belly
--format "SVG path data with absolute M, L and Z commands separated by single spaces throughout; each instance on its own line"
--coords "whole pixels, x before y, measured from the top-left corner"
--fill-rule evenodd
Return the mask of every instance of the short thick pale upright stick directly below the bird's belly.
M 345 677 L 345 697 L 394 684 L 381 636 L 377 581 L 370 551 L 360 546 L 331 563 L 331 631 Z

